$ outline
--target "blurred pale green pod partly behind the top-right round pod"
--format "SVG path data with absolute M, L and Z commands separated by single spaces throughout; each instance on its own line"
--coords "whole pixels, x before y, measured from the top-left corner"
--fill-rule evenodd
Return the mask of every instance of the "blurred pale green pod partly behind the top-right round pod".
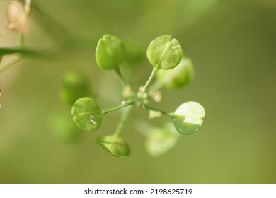
M 160 70 L 156 74 L 157 83 L 166 88 L 180 88 L 186 86 L 194 78 L 194 67 L 192 61 L 183 58 L 175 68 L 171 70 Z

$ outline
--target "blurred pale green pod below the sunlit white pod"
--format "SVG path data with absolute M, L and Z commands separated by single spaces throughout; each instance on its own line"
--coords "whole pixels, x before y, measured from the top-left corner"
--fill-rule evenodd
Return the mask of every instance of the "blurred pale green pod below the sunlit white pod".
M 161 156 L 176 145 L 180 134 L 171 125 L 164 124 L 163 127 L 154 127 L 147 132 L 145 146 L 150 156 Z

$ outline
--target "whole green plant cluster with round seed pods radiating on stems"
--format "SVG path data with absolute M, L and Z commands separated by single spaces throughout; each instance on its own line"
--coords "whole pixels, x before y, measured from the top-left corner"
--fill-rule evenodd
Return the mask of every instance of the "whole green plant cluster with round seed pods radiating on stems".
M 180 43 L 171 35 L 157 37 L 151 41 L 146 51 L 146 56 L 152 65 L 149 79 L 144 86 L 140 86 L 139 90 L 133 91 L 120 69 L 125 61 L 125 54 L 123 42 L 118 37 L 103 35 L 100 38 L 96 47 L 96 63 L 101 69 L 113 70 L 119 76 L 123 86 L 122 102 L 120 105 L 103 110 L 95 99 L 79 98 L 71 108 L 73 120 L 80 129 L 95 131 L 100 127 L 105 115 L 122 109 L 120 122 L 114 133 L 100 136 L 96 141 L 111 155 L 126 158 L 130 156 L 130 146 L 125 139 L 122 139 L 121 132 L 131 110 L 134 107 L 141 107 L 149 113 L 150 119 L 164 115 L 168 117 L 170 122 L 160 127 L 152 127 L 147 122 L 142 121 L 138 123 L 142 126 L 139 127 L 139 130 L 146 136 L 146 150 L 151 156 L 159 156 L 176 144 L 180 134 L 190 135 L 196 132 L 202 125 L 203 117 L 205 117 L 205 109 L 194 101 L 180 104 L 173 112 L 159 110 L 149 105 L 150 101 L 161 102 L 160 88 L 180 88 L 189 83 L 194 72 L 192 62 L 183 56 Z M 156 82 L 150 86 L 155 77 Z M 81 84 L 86 87 L 86 83 Z M 64 90 L 65 93 L 71 92 L 70 86 Z M 86 92 L 87 88 L 83 88 L 83 91 Z

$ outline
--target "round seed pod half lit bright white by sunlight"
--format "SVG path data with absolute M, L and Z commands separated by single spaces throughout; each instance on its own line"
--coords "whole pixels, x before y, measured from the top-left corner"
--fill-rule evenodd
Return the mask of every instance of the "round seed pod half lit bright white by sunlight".
M 190 135 L 202 125 L 205 109 L 197 102 L 186 102 L 180 105 L 173 118 L 173 124 L 180 134 Z

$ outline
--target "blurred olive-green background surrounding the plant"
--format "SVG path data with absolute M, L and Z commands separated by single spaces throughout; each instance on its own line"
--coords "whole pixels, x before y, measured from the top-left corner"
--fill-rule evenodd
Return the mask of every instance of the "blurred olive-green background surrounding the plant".
M 0 1 L 0 28 L 6 5 Z M 26 46 L 50 50 L 47 58 L 27 57 L 0 74 L 1 183 L 275 183 L 276 182 L 276 1 L 275 0 L 102 0 L 34 1 Z M 56 28 L 56 23 L 62 29 Z M 59 101 L 62 75 L 71 69 L 91 76 L 103 109 L 117 105 L 120 81 L 96 66 L 98 39 L 110 33 L 134 40 L 142 60 L 123 73 L 134 88 L 144 84 L 152 66 L 146 47 L 160 35 L 173 35 L 195 65 L 195 79 L 177 91 L 163 90 L 160 105 L 171 112 L 195 100 L 206 110 L 198 132 L 182 136 L 159 158 L 144 149 L 144 136 L 130 118 L 122 136 L 130 158 L 110 156 L 95 140 L 112 134 L 117 112 L 100 129 L 84 132 L 74 144 L 52 134 L 52 110 Z M 71 42 L 62 45 L 67 38 Z M 18 35 L 0 37 L 16 45 Z M 4 59 L 6 61 L 6 57 Z M 129 67 L 128 64 L 123 66 Z M 117 91 L 117 92 L 115 92 Z M 147 119 L 146 112 L 134 113 Z M 152 120 L 153 124 L 168 121 Z

